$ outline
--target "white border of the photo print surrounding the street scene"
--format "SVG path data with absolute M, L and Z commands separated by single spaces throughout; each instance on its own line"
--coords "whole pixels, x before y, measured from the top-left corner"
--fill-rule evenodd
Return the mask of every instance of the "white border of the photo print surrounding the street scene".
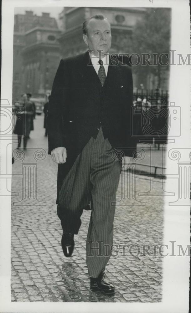
M 63 1 L 63 0 L 3 0 L 2 1 L 2 80 L 1 105 L 8 100 L 12 105 L 13 81 L 13 23 L 14 7 L 64 7 L 64 6 L 99 6 L 99 7 L 171 7 L 171 50 L 176 50 L 175 63 L 178 64 L 178 53 L 185 59 L 190 54 L 190 9 L 188 0 L 126 0 L 126 1 Z M 169 149 L 190 149 L 190 66 L 172 65 L 170 67 L 169 101 L 180 105 L 182 129 L 181 136 L 176 138 Z M 189 112 L 189 113 L 188 113 Z M 8 121 L 9 122 L 9 121 Z M 1 131 L 6 128 L 6 121 L 1 123 Z M 11 135 L 11 134 L 10 134 Z M 6 155 L 6 138 L 1 137 L 1 174 L 9 164 L 11 173 L 11 155 Z M 184 157 L 184 155 L 183 155 Z M 186 158 L 186 155 L 185 155 Z M 7 161 L 8 160 L 8 161 Z M 177 164 L 167 158 L 167 172 L 177 173 Z M 4 183 L 1 178 L 1 186 Z M 167 179 L 166 190 L 173 191 L 175 179 Z M 2 188 L 1 188 L 2 189 Z M 0 207 L 0 312 L 188 312 L 189 300 L 189 257 L 163 258 L 163 299 L 160 303 L 45 303 L 11 302 L 10 294 L 10 220 L 11 198 L 2 196 Z M 175 241 L 184 248 L 190 244 L 190 208 L 189 206 L 169 206 L 168 197 L 164 203 L 164 244 Z M 178 247 L 177 247 L 178 249 Z M 175 249 L 175 254 L 176 254 Z M 177 253 L 178 254 L 178 253 Z

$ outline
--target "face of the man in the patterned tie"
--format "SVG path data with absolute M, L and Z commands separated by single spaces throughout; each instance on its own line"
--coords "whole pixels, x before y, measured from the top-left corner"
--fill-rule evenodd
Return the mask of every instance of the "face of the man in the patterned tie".
M 101 54 L 108 53 L 111 48 L 111 26 L 106 19 L 97 20 L 92 18 L 87 24 L 87 35 L 83 35 L 85 44 L 93 54 L 98 56 L 98 50 Z

